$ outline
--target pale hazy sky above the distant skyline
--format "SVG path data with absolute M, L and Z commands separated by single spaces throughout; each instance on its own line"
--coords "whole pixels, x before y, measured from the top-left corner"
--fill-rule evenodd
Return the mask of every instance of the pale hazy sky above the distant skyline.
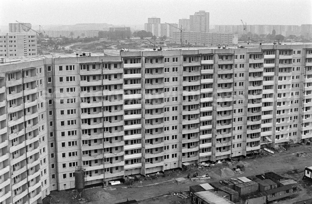
M 210 24 L 312 24 L 312 0 L 0 0 L 0 25 L 109 23 L 140 25 L 148 17 L 178 23 L 194 12 L 210 12 Z

